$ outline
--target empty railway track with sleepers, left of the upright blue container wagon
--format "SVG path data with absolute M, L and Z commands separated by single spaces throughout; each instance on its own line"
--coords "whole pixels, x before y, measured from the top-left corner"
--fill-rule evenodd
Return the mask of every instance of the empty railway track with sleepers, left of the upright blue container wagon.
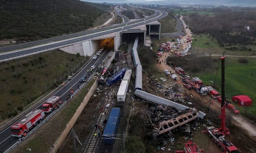
M 97 148 L 98 145 L 98 141 L 100 140 L 98 133 L 101 131 L 101 129 L 104 129 L 104 125 L 103 125 L 103 121 L 105 119 L 108 118 L 109 113 L 111 111 L 111 108 L 114 104 L 112 104 L 113 99 L 115 99 L 113 97 L 113 95 L 117 94 L 117 89 L 113 89 L 110 94 L 108 94 L 108 98 L 106 99 L 106 102 L 104 104 L 104 108 L 102 110 L 102 112 L 107 113 L 107 115 L 103 115 L 101 113 L 101 115 L 99 116 L 98 120 L 97 120 L 97 125 L 100 125 L 100 128 L 96 128 L 94 127 L 93 131 L 91 132 L 89 141 L 86 144 L 84 153 L 95 153 L 95 149 Z M 112 95 L 112 96 L 111 96 Z M 106 95 L 105 95 L 106 96 Z M 95 137 L 94 134 L 97 133 L 97 136 Z

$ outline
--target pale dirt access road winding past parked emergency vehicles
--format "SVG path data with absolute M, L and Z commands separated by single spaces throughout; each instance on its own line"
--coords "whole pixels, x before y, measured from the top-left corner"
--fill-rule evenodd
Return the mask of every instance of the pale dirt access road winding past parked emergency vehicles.
M 184 24 L 184 27 L 186 27 L 185 22 L 182 20 L 182 17 L 180 18 L 181 21 Z M 188 28 L 184 28 L 186 35 L 182 37 L 182 39 L 186 39 L 188 35 L 191 36 L 191 32 L 190 29 Z M 175 42 L 172 42 L 171 45 L 175 44 Z M 192 43 L 191 43 L 192 44 Z M 193 45 L 193 44 L 192 44 Z M 183 44 L 183 49 L 187 48 L 187 43 Z M 159 58 L 160 61 L 166 61 L 166 58 L 169 56 L 170 52 L 164 52 L 163 55 Z M 177 74 L 174 70 L 174 68 L 171 68 L 169 65 L 166 64 L 166 62 L 161 62 L 161 64 L 157 64 L 157 66 L 159 68 L 161 68 L 163 71 L 164 70 L 168 70 L 170 72 L 173 72 L 174 74 L 176 74 L 178 76 L 178 80 L 180 77 L 179 74 Z M 163 72 L 164 73 L 164 72 Z M 172 79 L 172 78 L 170 78 Z M 174 80 L 173 80 L 174 81 Z M 179 81 L 180 82 L 180 81 Z M 180 83 L 181 86 L 183 86 L 183 82 Z M 209 95 L 207 96 L 200 96 L 197 92 L 195 91 L 190 91 L 190 90 L 186 90 L 188 94 L 190 94 L 191 96 L 197 97 L 198 99 L 201 99 L 202 102 L 204 102 L 206 107 L 209 107 L 209 104 L 211 103 L 211 101 L 213 100 L 214 103 L 213 105 L 210 105 L 211 108 L 217 110 L 220 112 L 220 103 L 216 100 L 216 99 L 212 99 Z M 229 111 L 229 110 L 228 110 Z M 233 121 L 236 125 L 239 125 L 241 128 L 244 128 L 250 135 L 254 136 L 254 138 L 256 138 L 256 128 L 254 125 L 252 125 L 251 121 L 248 120 L 247 118 L 245 118 L 243 115 L 241 114 L 231 114 Z

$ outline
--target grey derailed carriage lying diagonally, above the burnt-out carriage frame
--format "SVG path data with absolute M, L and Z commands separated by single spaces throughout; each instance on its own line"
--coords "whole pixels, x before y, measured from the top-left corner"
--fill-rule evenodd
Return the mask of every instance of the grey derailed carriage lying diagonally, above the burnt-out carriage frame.
M 140 98 L 143 98 L 145 100 L 148 100 L 148 101 L 160 104 L 160 105 L 168 105 L 168 106 L 174 107 L 174 108 L 176 108 L 178 110 L 184 110 L 184 109 L 190 108 L 190 107 L 178 104 L 178 103 L 176 103 L 174 101 L 170 101 L 170 100 L 167 100 L 165 98 L 158 97 L 156 95 L 152 95 L 150 93 L 147 93 L 147 92 L 141 91 L 141 90 L 135 90 L 134 95 L 136 95 L 136 96 L 138 96 Z M 199 118 L 203 119 L 205 115 L 206 114 L 204 112 L 198 111 L 198 117 Z

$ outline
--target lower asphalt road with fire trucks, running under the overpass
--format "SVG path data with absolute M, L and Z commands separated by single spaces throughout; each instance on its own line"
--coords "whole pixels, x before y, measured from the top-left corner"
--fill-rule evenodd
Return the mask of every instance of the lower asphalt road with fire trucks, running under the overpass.
M 107 40 L 105 40 L 107 41 Z M 92 75 L 92 73 L 87 73 L 87 70 L 91 68 L 92 65 L 100 66 L 101 62 L 109 55 L 111 51 L 114 51 L 114 39 L 109 40 L 109 44 L 105 44 L 104 50 L 101 52 L 101 56 L 97 55 L 97 59 L 90 59 L 89 63 L 78 73 L 74 76 L 72 80 L 69 81 L 64 87 L 62 87 L 59 91 L 57 91 L 54 95 L 61 96 L 62 102 L 66 100 L 66 97 L 71 94 L 71 88 L 73 88 L 74 91 L 77 90 L 77 85 L 81 86 L 83 83 L 80 82 L 80 78 L 83 75 L 86 75 L 87 78 Z M 101 48 L 101 47 L 99 47 Z M 94 69 L 94 72 L 97 68 Z M 72 95 L 72 94 L 71 94 Z M 41 104 L 37 107 L 40 109 Z M 54 112 L 54 111 L 53 111 Z M 52 112 L 52 113 L 53 113 Z M 50 115 L 51 113 L 46 114 L 46 117 Z M 11 135 L 11 129 L 10 126 L 6 128 L 4 131 L 1 131 L 0 133 L 0 150 L 2 152 L 5 152 L 7 149 L 9 149 L 13 144 L 15 144 L 17 141 L 19 141 L 19 138 L 13 137 Z

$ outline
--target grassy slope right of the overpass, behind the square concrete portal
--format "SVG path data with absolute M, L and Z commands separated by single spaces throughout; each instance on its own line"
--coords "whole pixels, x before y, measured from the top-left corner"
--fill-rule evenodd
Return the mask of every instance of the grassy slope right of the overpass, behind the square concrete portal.
M 165 17 L 159 20 L 161 23 L 161 33 L 176 32 L 176 19 L 170 15 L 170 13 Z

